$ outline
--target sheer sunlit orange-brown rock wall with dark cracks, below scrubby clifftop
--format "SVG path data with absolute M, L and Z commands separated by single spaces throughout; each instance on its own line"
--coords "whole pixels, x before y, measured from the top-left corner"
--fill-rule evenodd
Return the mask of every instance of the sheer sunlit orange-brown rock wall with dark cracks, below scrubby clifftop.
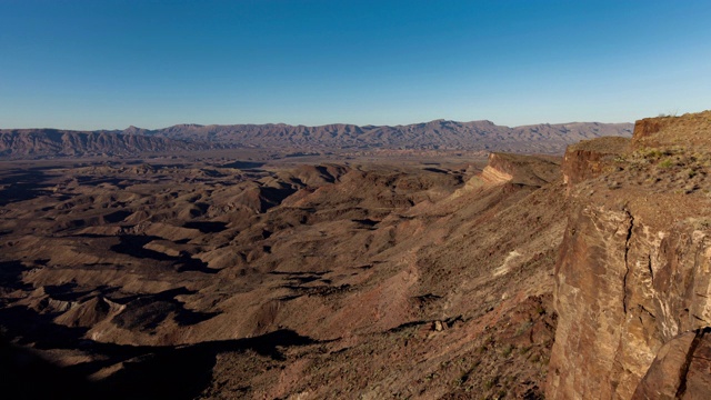
M 550 398 L 630 398 L 663 343 L 711 323 L 708 236 L 581 206 L 557 266 Z

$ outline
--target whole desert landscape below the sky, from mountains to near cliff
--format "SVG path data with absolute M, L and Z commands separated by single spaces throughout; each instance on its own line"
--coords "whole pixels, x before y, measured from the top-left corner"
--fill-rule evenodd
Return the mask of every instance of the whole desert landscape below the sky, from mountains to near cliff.
M 711 111 L 0 130 L 0 389 L 703 399 Z

